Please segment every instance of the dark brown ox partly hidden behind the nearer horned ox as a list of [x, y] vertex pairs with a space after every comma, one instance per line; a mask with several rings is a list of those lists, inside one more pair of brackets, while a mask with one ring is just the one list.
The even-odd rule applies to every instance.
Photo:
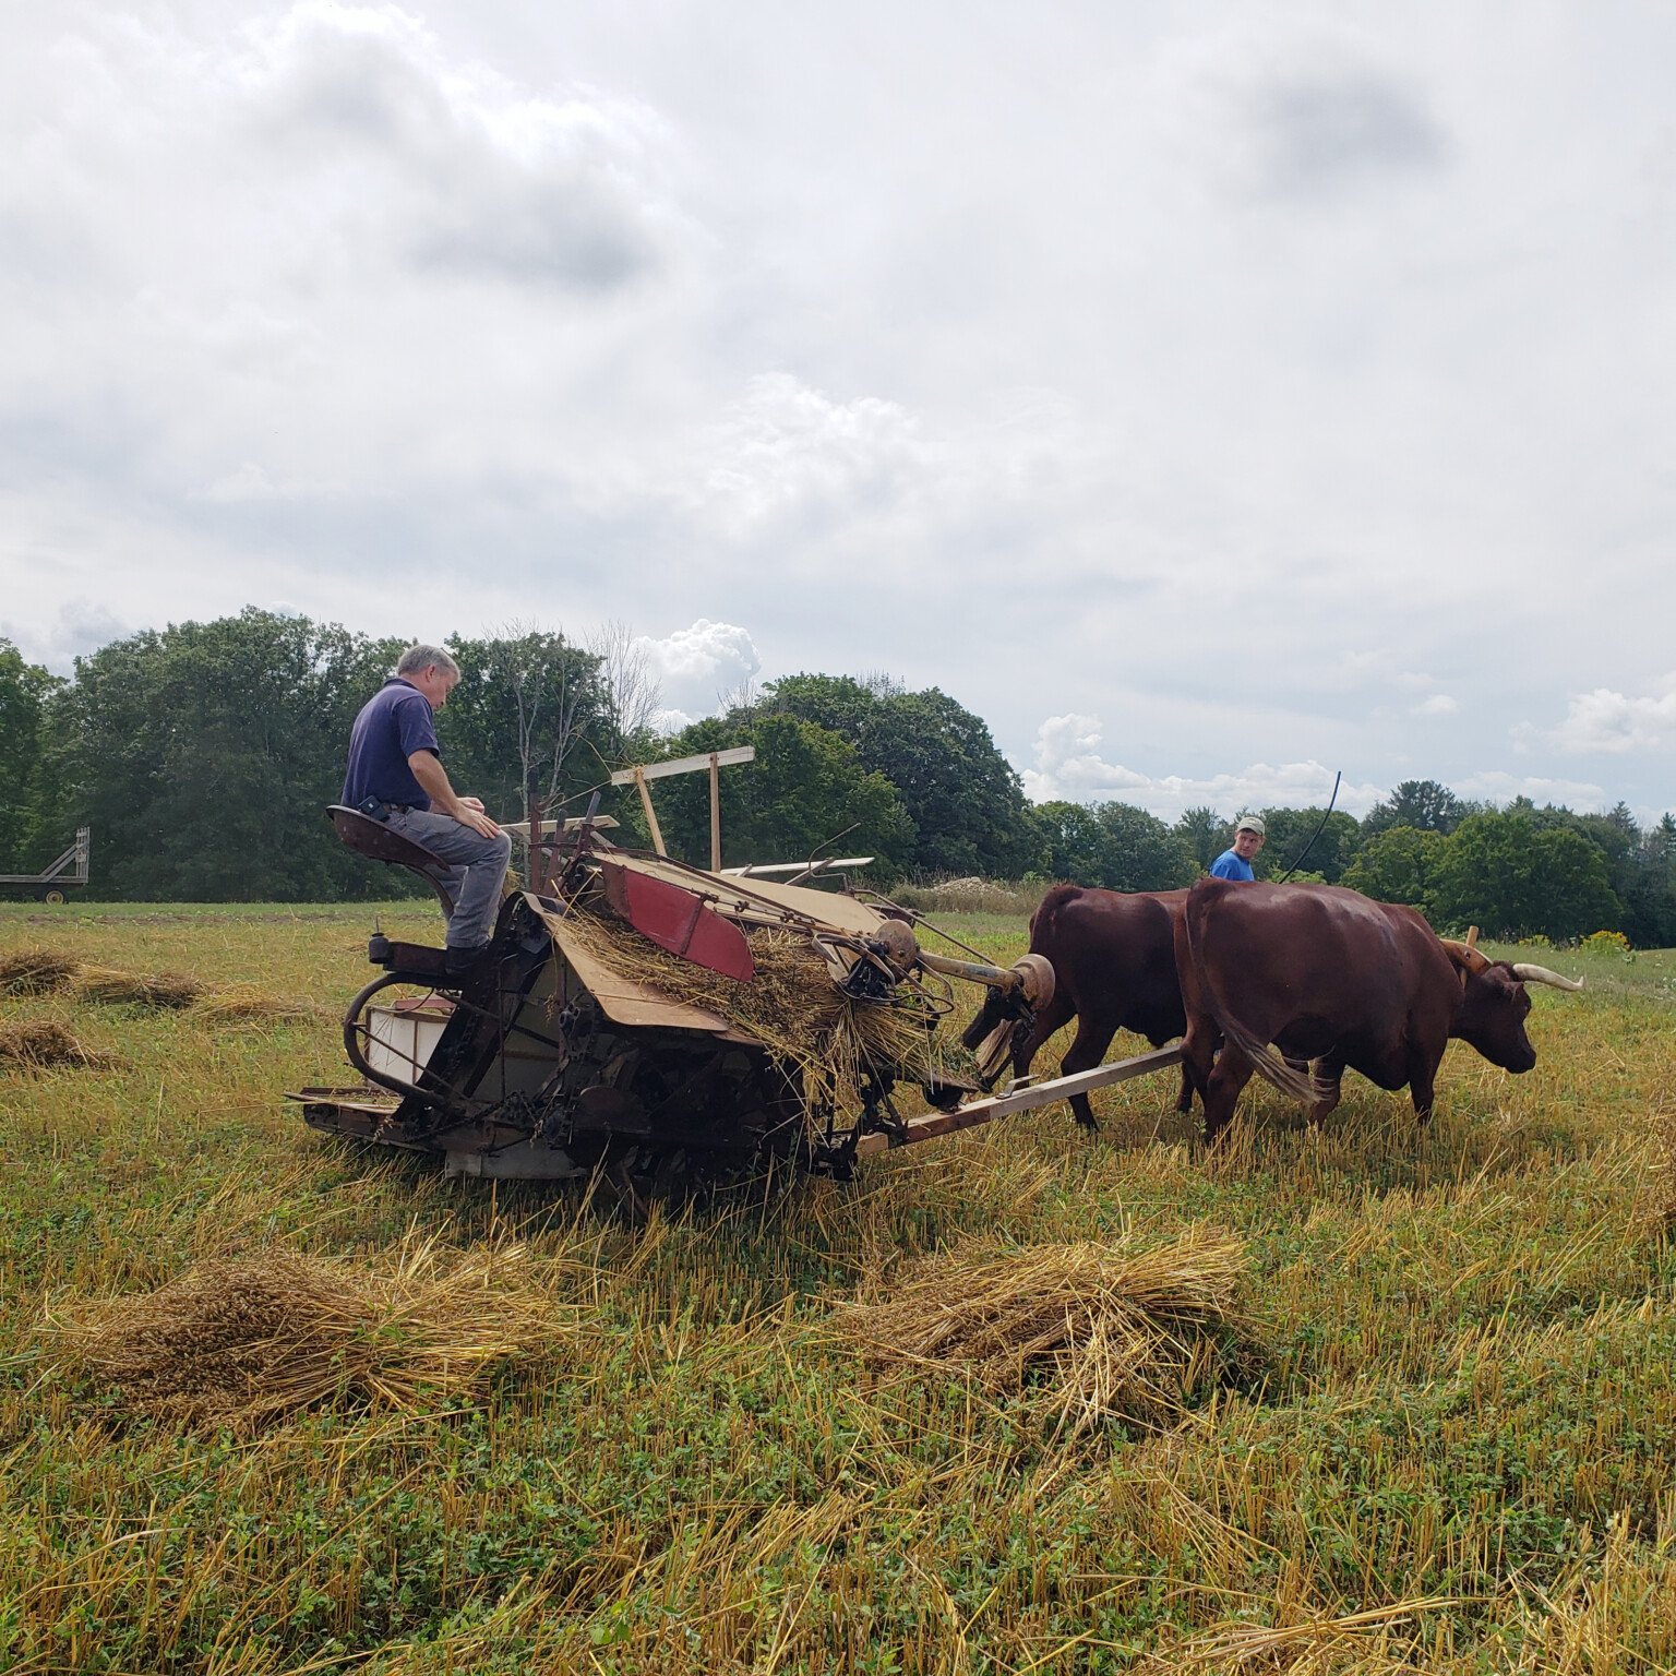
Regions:
[[[1173, 1041], [1185, 1027], [1182, 985], [1175, 975], [1175, 918], [1185, 890], [1126, 895], [1054, 885], [1031, 917], [1031, 954], [1054, 970], [1053, 1001], [1032, 1027], [1021, 1024], [1012, 1036], [1012, 1074], [1024, 1076], [1042, 1042], [1074, 1017], [1076, 1039], [1061, 1071], [1091, 1071], [1120, 1031], [1145, 1036], [1153, 1048]], [[1009, 1017], [1009, 1001], [991, 991], [977, 1017], [960, 1037], [977, 1048]], [[1190, 1111], [1193, 1089], [1182, 1078], [1177, 1111]], [[1098, 1130], [1088, 1094], [1071, 1094], [1076, 1121]]]

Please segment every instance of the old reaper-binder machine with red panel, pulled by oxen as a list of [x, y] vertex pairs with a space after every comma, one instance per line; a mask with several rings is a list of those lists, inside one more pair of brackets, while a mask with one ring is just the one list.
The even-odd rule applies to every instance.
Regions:
[[[379, 823], [332, 816], [352, 848], [434, 872]], [[1046, 960], [996, 965], [883, 898], [689, 866], [605, 825], [533, 823], [533, 888], [506, 895], [466, 977], [372, 937], [379, 972], [344, 1017], [365, 1084], [292, 1096], [310, 1125], [461, 1175], [600, 1172], [639, 1198], [776, 1160], [848, 1177], [868, 1153], [1178, 1061], [1165, 1048], [980, 1098], [939, 1029], [954, 985], [987, 985], [1007, 1029], [1027, 1027], [1053, 999]], [[922, 947], [932, 935], [945, 952]], [[907, 1110], [915, 1086], [929, 1110]]]

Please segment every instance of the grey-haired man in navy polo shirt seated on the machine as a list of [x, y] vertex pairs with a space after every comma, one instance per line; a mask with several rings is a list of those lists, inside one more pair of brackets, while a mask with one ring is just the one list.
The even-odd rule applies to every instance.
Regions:
[[436, 711], [458, 680], [459, 665], [441, 647], [407, 647], [396, 675], [355, 717], [342, 796], [444, 863], [437, 878], [454, 898], [444, 955], [451, 975], [468, 972], [488, 949], [513, 853], [511, 838], [476, 798], [456, 794], [442, 768]]

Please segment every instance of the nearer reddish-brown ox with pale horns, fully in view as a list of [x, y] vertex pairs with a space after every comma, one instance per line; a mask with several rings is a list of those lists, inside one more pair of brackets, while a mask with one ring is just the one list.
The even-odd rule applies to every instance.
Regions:
[[[1488, 960], [1438, 937], [1413, 908], [1336, 885], [1202, 878], [1177, 922], [1177, 962], [1182, 1063], [1205, 1101], [1207, 1141], [1252, 1071], [1316, 1121], [1339, 1103], [1346, 1068], [1379, 1088], [1408, 1084], [1425, 1121], [1451, 1037], [1505, 1071], [1529, 1071], [1537, 1051], [1525, 982], [1582, 989], [1547, 967]], [[1282, 1054], [1314, 1059], [1314, 1079]]]

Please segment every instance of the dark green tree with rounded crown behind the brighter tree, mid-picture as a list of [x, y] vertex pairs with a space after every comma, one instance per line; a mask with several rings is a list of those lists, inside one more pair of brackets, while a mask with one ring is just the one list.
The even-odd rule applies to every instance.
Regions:
[[1017, 878], [1042, 865], [1019, 776], [984, 721], [947, 692], [905, 692], [883, 677], [788, 675], [766, 691], [763, 709], [855, 744], [863, 766], [902, 794], [920, 872]]

